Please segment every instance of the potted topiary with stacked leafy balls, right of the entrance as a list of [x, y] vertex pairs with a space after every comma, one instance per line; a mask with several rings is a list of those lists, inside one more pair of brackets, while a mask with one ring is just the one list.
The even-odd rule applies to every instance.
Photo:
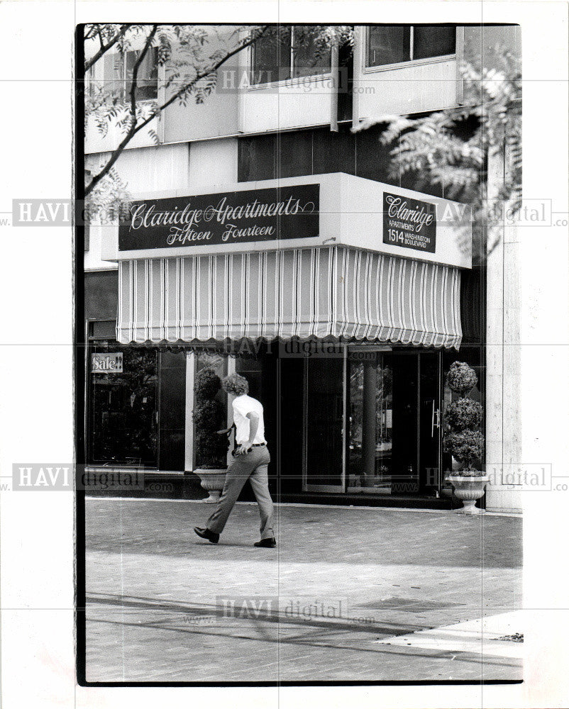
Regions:
[[455, 497], [463, 501], [463, 507], [456, 510], [463, 515], [479, 515], [483, 510], [476, 507], [476, 501], [484, 494], [489, 480], [483, 471], [473, 468], [480, 462], [484, 451], [484, 434], [480, 430], [482, 406], [473, 401], [468, 393], [476, 386], [478, 377], [472, 367], [465, 362], [453, 362], [446, 376], [446, 384], [459, 398], [450, 403], [445, 411], [445, 432], [443, 447], [460, 464], [447, 480], [454, 488]]

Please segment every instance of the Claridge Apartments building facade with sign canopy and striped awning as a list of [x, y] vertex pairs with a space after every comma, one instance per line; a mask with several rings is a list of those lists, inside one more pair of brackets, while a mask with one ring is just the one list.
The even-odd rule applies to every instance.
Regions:
[[[263, 402], [279, 501], [450, 508], [457, 360], [477, 372], [486, 464], [519, 459], [504, 355], [515, 239], [473, 253], [468, 206], [420, 174], [394, 181], [381, 124], [353, 130], [460, 105], [460, 62], [519, 49], [518, 29], [356, 27], [353, 48], [317, 55], [291, 27], [279, 57], [242, 50], [203, 103], [172, 104], [136, 136], [116, 163], [131, 214], [86, 240], [88, 465], [191, 480], [194, 381], [214, 367]], [[212, 51], [230, 35], [212, 33]], [[126, 82], [129, 54], [90, 78]], [[167, 98], [164, 67], [147, 63], [142, 100]], [[119, 135], [89, 120], [87, 169]], [[499, 166], [489, 174], [491, 191]], [[487, 509], [519, 510], [502, 483], [492, 476]]]

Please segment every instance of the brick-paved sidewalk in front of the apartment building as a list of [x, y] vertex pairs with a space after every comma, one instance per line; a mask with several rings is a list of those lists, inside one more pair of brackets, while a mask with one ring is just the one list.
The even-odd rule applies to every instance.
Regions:
[[521, 679], [519, 652], [377, 642], [519, 609], [521, 519], [284, 505], [258, 549], [254, 504], [219, 545], [210, 512], [87, 501], [88, 681]]

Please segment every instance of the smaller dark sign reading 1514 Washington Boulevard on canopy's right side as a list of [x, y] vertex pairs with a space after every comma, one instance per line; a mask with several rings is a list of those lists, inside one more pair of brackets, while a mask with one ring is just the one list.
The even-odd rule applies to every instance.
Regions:
[[384, 192], [383, 243], [435, 253], [436, 205]]

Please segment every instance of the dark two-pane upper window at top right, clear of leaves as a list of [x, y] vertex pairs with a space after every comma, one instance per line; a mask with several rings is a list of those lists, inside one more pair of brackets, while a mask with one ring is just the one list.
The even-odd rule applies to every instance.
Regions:
[[368, 67], [382, 67], [456, 52], [456, 28], [441, 25], [373, 26], [368, 32]]

